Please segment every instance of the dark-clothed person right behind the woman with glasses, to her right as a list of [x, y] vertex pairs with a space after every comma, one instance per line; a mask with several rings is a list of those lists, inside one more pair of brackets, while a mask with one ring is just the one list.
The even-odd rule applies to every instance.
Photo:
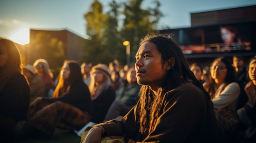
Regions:
[[240, 55], [233, 56], [233, 67], [236, 71], [237, 83], [240, 86], [240, 95], [238, 97], [237, 109], [242, 108], [248, 101], [245, 93], [245, 85], [248, 83], [247, 70], [244, 67], [245, 59]]

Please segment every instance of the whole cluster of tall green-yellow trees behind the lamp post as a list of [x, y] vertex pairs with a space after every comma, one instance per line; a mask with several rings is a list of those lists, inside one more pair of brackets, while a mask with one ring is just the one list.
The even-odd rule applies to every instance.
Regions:
[[103, 6], [98, 0], [90, 5], [90, 10], [84, 14], [86, 33], [89, 39], [85, 41], [81, 60], [92, 64], [108, 64], [114, 59], [126, 64], [126, 46], [122, 43], [130, 41], [130, 59], [135, 62], [139, 40], [148, 32], [157, 31], [159, 19], [163, 17], [159, 11], [160, 3], [154, 1], [154, 7], [142, 9], [143, 0], [129, 0], [109, 3], [110, 10], [103, 12]]

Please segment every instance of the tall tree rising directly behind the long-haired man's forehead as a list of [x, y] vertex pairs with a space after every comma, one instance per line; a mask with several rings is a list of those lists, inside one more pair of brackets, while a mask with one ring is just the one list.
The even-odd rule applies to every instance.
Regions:
[[[139, 40], [149, 32], [156, 32], [159, 19], [163, 17], [159, 11], [160, 2], [154, 1], [154, 8], [141, 9], [142, 2], [143, 0], [130, 0], [127, 4], [124, 3], [125, 19], [121, 36], [130, 41], [131, 57], [135, 57]], [[132, 59], [135, 62], [135, 58]]]

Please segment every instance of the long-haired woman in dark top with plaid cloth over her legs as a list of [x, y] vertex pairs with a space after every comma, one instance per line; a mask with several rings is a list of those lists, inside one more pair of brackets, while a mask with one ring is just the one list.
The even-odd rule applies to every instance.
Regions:
[[65, 61], [52, 98], [38, 97], [29, 107], [23, 132], [41, 139], [52, 138], [54, 129], [80, 130], [92, 117], [92, 101], [82, 79], [80, 64]]

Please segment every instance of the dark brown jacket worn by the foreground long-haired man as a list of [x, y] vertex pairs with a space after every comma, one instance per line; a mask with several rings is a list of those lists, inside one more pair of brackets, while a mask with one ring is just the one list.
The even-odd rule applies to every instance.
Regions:
[[139, 133], [137, 105], [122, 121], [101, 123], [107, 136], [126, 135], [137, 143], [216, 143], [218, 124], [204, 93], [190, 83], [167, 92], [153, 132]]

